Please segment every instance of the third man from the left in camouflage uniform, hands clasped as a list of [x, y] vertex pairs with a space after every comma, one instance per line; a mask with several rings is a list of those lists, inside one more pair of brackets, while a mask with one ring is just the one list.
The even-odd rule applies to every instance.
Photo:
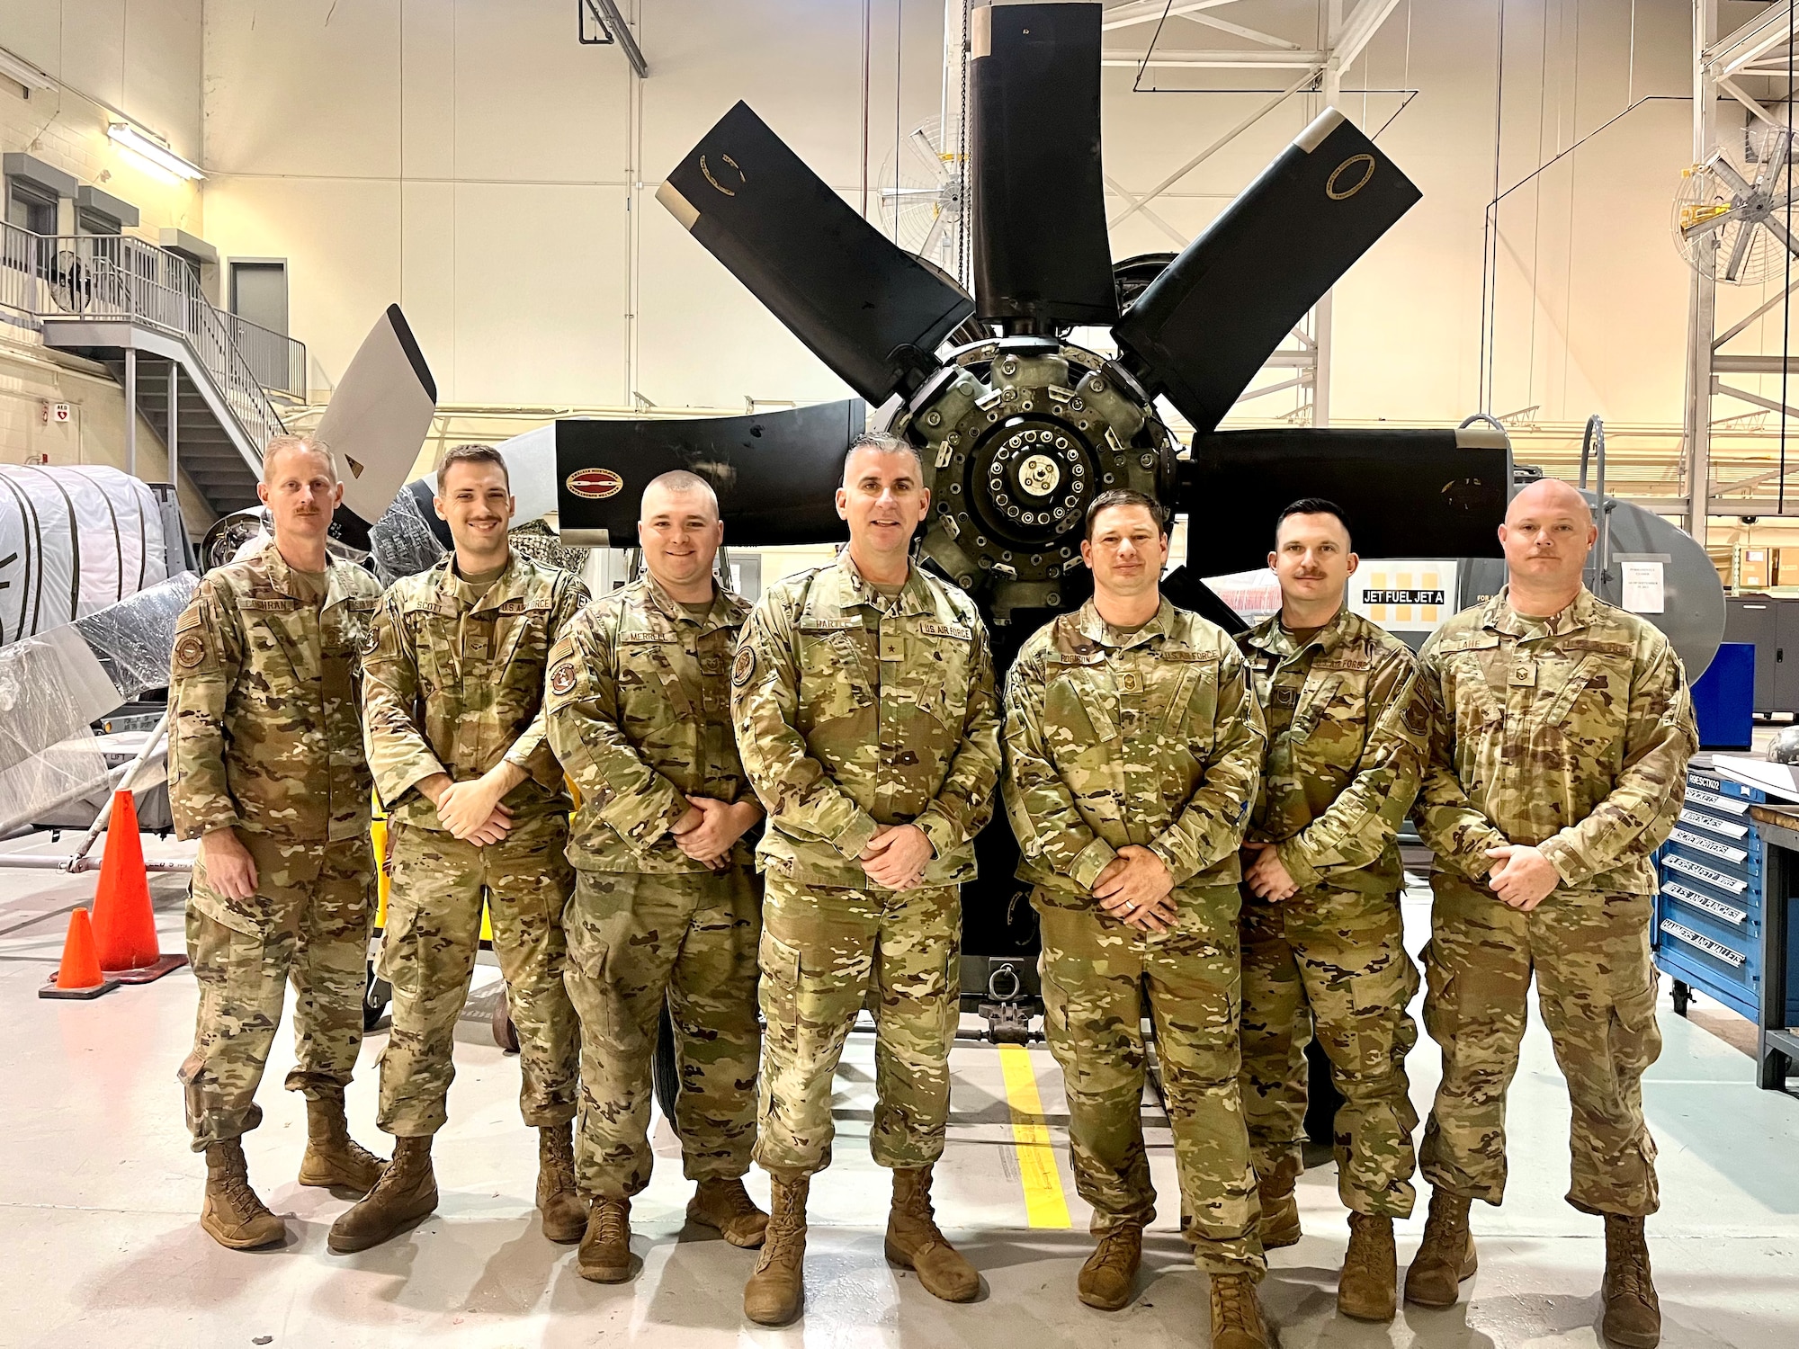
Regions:
[[759, 1246], [743, 1189], [756, 1140], [761, 885], [743, 835], [763, 818], [730, 730], [730, 658], [750, 606], [712, 583], [723, 543], [705, 478], [644, 487], [648, 576], [568, 624], [550, 651], [550, 745], [581, 793], [568, 860], [568, 993], [581, 1014], [577, 1268], [631, 1277], [631, 1196], [649, 1184], [649, 1061], [675, 1027], [675, 1131], [698, 1182], [687, 1216]]

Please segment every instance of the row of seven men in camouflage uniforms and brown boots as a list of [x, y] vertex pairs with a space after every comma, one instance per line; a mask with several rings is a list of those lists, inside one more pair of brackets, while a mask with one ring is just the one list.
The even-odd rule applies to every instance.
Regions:
[[[1439, 860], [1423, 962], [1445, 1074], [1405, 1297], [1448, 1306], [1473, 1273], [1470, 1202], [1504, 1191], [1504, 1097], [1535, 971], [1574, 1103], [1569, 1200], [1605, 1216], [1605, 1333], [1657, 1342], [1639, 1088], [1659, 1050], [1648, 854], [1678, 811], [1696, 732], [1666, 639], [1581, 586], [1594, 531], [1565, 484], [1518, 493], [1500, 529], [1508, 590], [1418, 658], [1344, 606], [1356, 556], [1329, 502], [1283, 513], [1268, 558], [1281, 612], [1232, 640], [1160, 595], [1157, 504], [1108, 491], [1081, 545], [1092, 599], [1024, 644], [1000, 703], [971, 601], [912, 563], [930, 493], [916, 450], [889, 437], [846, 459], [849, 545], [754, 610], [714, 583], [718, 502], [687, 473], [644, 493], [644, 579], [592, 604], [507, 550], [491, 450], [446, 457], [439, 511], [457, 550], [385, 599], [326, 563], [329, 457], [277, 442], [264, 477], [275, 538], [205, 579], [173, 673], [171, 797], [182, 833], [203, 835], [189, 907], [201, 1007], [182, 1079], [209, 1164], [201, 1221], [225, 1245], [282, 1236], [237, 1140], [259, 1119], [288, 977], [300, 1043], [288, 1085], [309, 1119], [300, 1180], [367, 1194], [331, 1246], [374, 1245], [435, 1207], [430, 1135], [486, 898], [522, 1108], [541, 1135], [545, 1234], [581, 1243], [585, 1277], [631, 1277], [666, 1007], [689, 1218], [761, 1246], [752, 1320], [797, 1317], [831, 1077], [867, 1005], [871, 1151], [894, 1176], [887, 1255], [934, 1295], [973, 1299], [980, 1279], [930, 1194], [957, 887], [998, 790], [1042, 923], [1047, 1038], [1094, 1211], [1081, 1300], [1128, 1304], [1155, 1214], [1148, 1014], [1214, 1345], [1272, 1344], [1256, 1284], [1265, 1248], [1301, 1236], [1313, 1032], [1344, 1097], [1338, 1308], [1389, 1320], [1418, 1124], [1405, 1056], [1419, 980], [1396, 847], [1412, 813]], [[392, 815], [390, 1164], [349, 1140], [342, 1112], [371, 917], [363, 741]], [[743, 1189], [752, 1157], [772, 1178], [770, 1214]]]

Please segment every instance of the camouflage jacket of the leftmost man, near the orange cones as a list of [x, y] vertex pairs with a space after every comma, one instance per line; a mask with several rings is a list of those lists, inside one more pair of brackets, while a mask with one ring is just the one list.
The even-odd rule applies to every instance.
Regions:
[[207, 572], [175, 624], [169, 808], [182, 838], [234, 827], [297, 844], [369, 833], [358, 662], [381, 586], [326, 565], [315, 608], [270, 543]]

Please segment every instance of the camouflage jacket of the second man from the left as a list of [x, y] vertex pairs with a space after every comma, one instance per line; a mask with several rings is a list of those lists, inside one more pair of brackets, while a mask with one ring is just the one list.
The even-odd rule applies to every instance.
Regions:
[[484, 595], [455, 574], [453, 552], [394, 581], [363, 653], [363, 734], [389, 815], [439, 829], [414, 788], [434, 773], [480, 777], [500, 759], [525, 770], [506, 793], [515, 822], [568, 809], [543, 739], [543, 671], [583, 604], [579, 579], [516, 550]]

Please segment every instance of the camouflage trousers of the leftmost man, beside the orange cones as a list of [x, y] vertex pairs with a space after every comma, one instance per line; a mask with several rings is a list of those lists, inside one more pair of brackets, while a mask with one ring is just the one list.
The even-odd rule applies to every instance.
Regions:
[[293, 1072], [288, 1090], [342, 1095], [362, 1050], [369, 984], [374, 854], [367, 838], [290, 844], [237, 835], [255, 862], [257, 892], [227, 899], [194, 863], [187, 959], [200, 986], [194, 1050], [182, 1063], [194, 1151], [263, 1122], [255, 1088], [293, 982]]

